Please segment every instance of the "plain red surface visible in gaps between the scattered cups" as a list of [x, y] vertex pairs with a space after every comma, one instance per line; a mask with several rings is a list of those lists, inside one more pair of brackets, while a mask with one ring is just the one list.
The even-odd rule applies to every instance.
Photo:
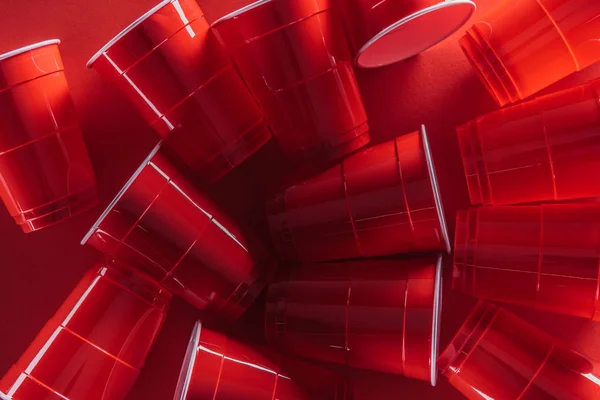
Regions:
[[[497, 0], [478, 0], [474, 18]], [[199, 0], [209, 21], [251, 0]], [[0, 209], [0, 374], [25, 350], [83, 273], [102, 256], [79, 241], [135, 167], [158, 140], [132, 107], [105, 85], [85, 63], [104, 43], [157, 3], [157, 0], [1, 0], [0, 53], [30, 43], [60, 38], [60, 46], [85, 140], [94, 164], [101, 206], [49, 229], [25, 235], [8, 212]], [[468, 205], [454, 127], [496, 108], [458, 48], [459, 35], [425, 53], [375, 70], [358, 72], [375, 143], [416, 130], [425, 123], [450, 229], [458, 208]], [[556, 90], [600, 76], [588, 68], [549, 88]], [[210, 192], [234, 216], [264, 234], [262, 190], [274, 171], [277, 154], [267, 146]], [[451, 232], [453, 236], [453, 232]], [[446, 291], [442, 317], [445, 345], [474, 300], [448, 287], [450, 259], [445, 263]], [[259, 302], [233, 329], [260, 340]], [[600, 372], [598, 324], [523, 309], [515, 311], [588, 357]], [[165, 327], [129, 399], [170, 399], [182, 353], [197, 312], [181, 301], [173, 304]], [[437, 388], [397, 376], [357, 372], [359, 399], [460, 399], [443, 377]]]

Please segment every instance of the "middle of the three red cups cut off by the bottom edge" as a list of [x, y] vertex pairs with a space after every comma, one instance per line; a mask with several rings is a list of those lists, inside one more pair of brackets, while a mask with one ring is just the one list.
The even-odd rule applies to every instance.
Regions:
[[352, 400], [328, 370], [237, 342], [196, 323], [174, 400]]

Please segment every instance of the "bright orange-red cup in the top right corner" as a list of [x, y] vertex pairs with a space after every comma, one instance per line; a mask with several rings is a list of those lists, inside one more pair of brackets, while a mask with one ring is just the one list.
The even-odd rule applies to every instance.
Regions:
[[600, 60], [598, 37], [597, 0], [504, 0], [459, 43], [503, 106]]

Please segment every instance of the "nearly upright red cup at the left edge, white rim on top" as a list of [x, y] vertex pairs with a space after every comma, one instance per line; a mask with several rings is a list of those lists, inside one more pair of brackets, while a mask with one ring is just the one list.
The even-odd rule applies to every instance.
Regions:
[[0, 55], [0, 197], [26, 233], [97, 204], [59, 43]]

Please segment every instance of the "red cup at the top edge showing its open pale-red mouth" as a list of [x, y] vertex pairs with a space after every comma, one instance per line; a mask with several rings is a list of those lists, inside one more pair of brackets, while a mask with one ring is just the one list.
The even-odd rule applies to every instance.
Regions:
[[435, 46], [475, 11], [471, 0], [340, 1], [358, 67], [393, 64]]

